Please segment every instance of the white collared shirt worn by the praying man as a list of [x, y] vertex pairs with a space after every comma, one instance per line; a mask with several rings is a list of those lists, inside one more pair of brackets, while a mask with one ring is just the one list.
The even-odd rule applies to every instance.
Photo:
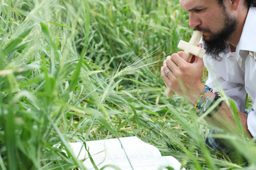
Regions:
[[[248, 114], [247, 128], [256, 137], [256, 8], [247, 14], [236, 52], [226, 54], [221, 61], [214, 61], [204, 55], [204, 64], [209, 72], [206, 84], [213, 91], [224, 91], [233, 99], [238, 111], [245, 112], [246, 93], [253, 101], [253, 112]], [[249, 53], [255, 52], [255, 53]]]

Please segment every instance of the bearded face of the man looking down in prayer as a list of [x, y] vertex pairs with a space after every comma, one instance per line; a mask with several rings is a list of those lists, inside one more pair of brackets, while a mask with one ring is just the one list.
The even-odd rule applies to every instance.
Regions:
[[225, 4], [217, 0], [180, 0], [180, 6], [189, 12], [189, 27], [204, 32], [204, 49], [214, 59], [229, 52], [228, 40], [236, 31], [237, 19], [229, 15]]

